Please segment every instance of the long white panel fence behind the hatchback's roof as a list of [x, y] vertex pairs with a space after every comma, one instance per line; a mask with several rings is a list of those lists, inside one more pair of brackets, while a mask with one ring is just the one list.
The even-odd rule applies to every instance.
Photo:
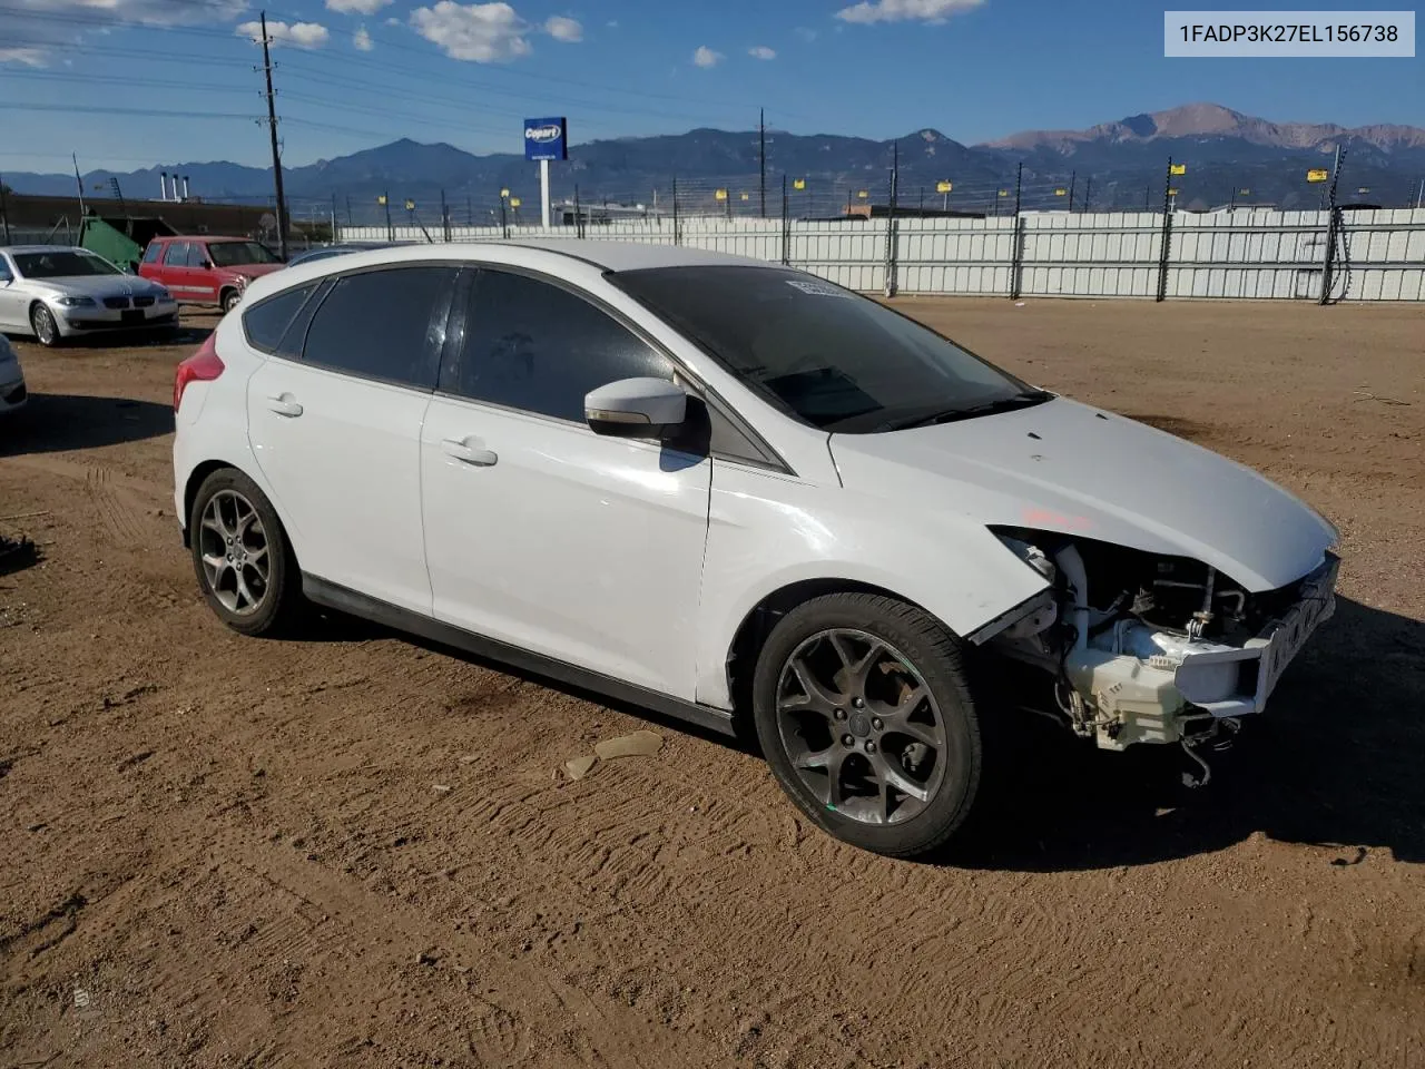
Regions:
[[[1321, 295], [1325, 211], [1238, 208], [1174, 214], [1166, 274], [1163, 217], [1153, 212], [1026, 212], [988, 218], [630, 220], [584, 228], [590, 239], [683, 244], [789, 262], [865, 292], [886, 285], [888, 247], [901, 294], [1302, 299]], [[510, 227], [512, 241], [570, 238], [573, 227]], [[452, 241], [500, 241], [500, 227], [452, 227]], [[1016, 268], [1015, 242], [1019, 241]], [[342, 241], [442, 241], [440, 227], [345, 227]], [[1345, 212], [1332, 296], [1425, 301], [1425, 210]]]

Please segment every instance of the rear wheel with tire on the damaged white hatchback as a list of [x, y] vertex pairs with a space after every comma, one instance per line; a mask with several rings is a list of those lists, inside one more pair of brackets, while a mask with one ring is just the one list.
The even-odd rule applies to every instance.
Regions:
[[224, 468], [194, 496], [192, 567], [208, 606], [241, 634], [269, 634], [301, 603], [301, 572], [272, 503], [248, 476]]

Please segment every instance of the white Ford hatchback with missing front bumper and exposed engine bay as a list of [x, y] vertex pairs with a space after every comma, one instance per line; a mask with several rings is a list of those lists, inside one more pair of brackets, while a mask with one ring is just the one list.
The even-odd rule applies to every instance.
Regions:
[[945, 842], [1005, 774], [990, 681], [1102, 747], [1191, 747], [1263, 708], [1334, 603], [1335, 530], [1254, 472], [687, 248], [289, 268], [174, 408], [228, 626], [305, 599], [751, 724], [808, 818], [885, 854]]

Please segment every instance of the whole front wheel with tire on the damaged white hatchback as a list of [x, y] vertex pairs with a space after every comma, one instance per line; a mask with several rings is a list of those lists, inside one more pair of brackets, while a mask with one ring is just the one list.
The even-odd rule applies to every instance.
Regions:
[[787, 613], [752, 716], [782, 790], [839, 840], [915, 857], [970, 814], [983, 748], [960, 644], [913, 606], [844, 593]]

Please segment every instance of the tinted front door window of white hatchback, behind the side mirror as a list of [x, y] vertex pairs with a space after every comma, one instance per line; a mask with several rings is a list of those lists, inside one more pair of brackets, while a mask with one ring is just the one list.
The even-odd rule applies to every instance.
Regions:
[[617, 379], [673, 378], [673, 365], [611, 316], [524, 275], [482, 271], [465, 346], [445, 389], [584, 422], [584, 395]]

